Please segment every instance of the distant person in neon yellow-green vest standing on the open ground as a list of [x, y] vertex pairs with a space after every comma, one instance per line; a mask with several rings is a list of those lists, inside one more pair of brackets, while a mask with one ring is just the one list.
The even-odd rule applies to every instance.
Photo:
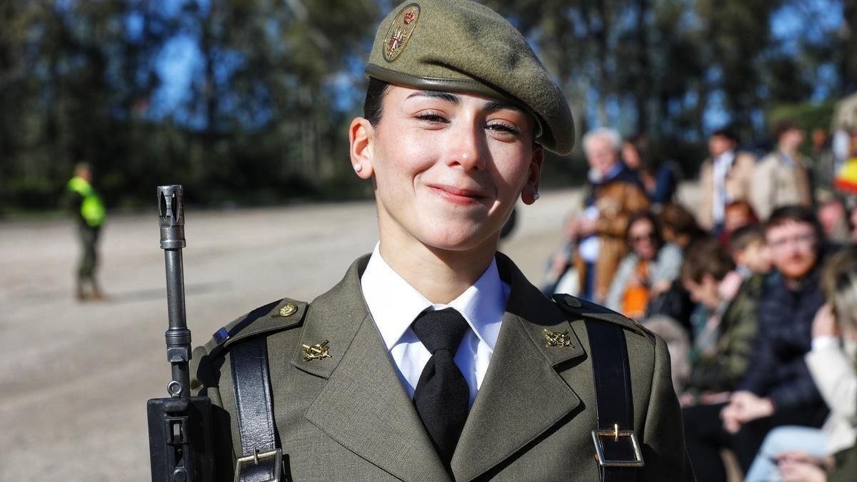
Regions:
[[[103, 299], [104, 295], [95, 279], [99, 256], [97, 244], [101, 226], [105, 222], [105, 205], [93, 188], [93, 173], [89, 165], [81, 162], [75, 167], [75, 177], [69, 179], [69, 204], [77, 221], [77, 233], [81, 242], [81, 261], [77, 268], [77, 299]], [[89, 292], [87, 292], [87, 285]]]

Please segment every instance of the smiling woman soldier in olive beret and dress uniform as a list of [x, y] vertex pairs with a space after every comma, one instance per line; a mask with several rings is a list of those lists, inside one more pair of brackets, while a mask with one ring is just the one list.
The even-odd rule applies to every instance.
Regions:
[[545, 298], [496, 251], [518, 198], [539, 197], [544, 149], [573, 143], [521, 34], [467, 0], [405, 3], [366, 74], [351, 164], [380, 242], [312, 303], [262, 306], [195, 350], [219, 479], [692, 479], [663, 341]]

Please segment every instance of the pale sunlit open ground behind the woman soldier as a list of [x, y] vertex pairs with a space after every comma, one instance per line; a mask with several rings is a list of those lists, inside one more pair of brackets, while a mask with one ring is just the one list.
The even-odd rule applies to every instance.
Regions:
[[[501, 248], [530, 280], [560, 244], [572, 190], [518, 211]], [[312, 299], [377, 239], [375, 208], [350, 202], [189, 210], [184, 250], [195, 343], [274, 299]], [[0, 224], [0, 480], [150, 479], [145, 405], [166, 395], [166, 299], [155, 214], [111, 218], [101, 245], [109, 301], [72, 297], [66, 222]]]

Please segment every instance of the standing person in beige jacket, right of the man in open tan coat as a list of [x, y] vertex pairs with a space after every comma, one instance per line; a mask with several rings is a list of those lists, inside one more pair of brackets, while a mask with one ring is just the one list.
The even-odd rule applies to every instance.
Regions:
[[812, 204], [806, 162], [798, 152], [804, 141], [800, 123], [794, 119], [778, 122], [774, 137], [775, 150], [759, 161], [752, 174], [750, 200], [763, 220], [780, 206]]

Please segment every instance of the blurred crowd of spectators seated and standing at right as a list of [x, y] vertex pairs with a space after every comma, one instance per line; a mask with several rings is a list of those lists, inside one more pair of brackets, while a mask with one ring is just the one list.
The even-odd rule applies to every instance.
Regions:
[[644, 136], [590, 131], [584, 201], [543, 289], [667, 340], [698, 480], [726, 480], [727, 460], [750, 481], [854, 480], [857, 137], [814, 131], [803, 154], [783, 120], [772, 138], [759, 153], [716, 130], [690, 206]]

